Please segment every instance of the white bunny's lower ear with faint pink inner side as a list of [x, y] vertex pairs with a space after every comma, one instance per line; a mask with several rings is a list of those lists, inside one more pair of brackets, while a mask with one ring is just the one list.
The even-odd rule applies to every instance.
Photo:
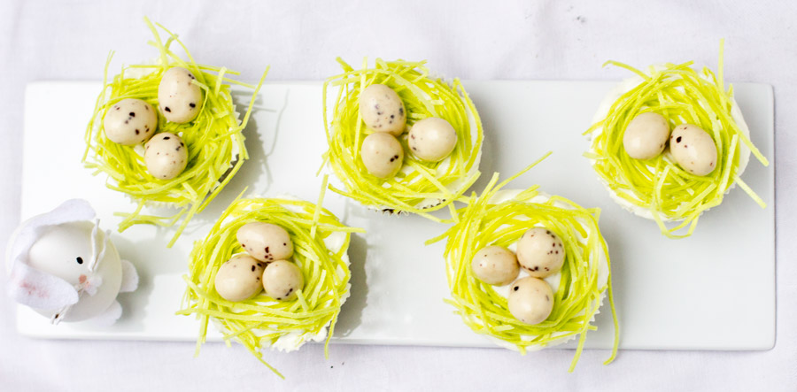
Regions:
[[19, 263], [10, 277], [9, 296], [19, 304], [35, 309], [60, 309], [77, 304], [77, 290], [61, 278]]

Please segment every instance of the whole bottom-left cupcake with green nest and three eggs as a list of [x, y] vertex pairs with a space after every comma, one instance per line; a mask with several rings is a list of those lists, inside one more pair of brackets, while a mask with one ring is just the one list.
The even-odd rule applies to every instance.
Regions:
[[[349, 296], [351, 233], [320, 205], [292, 197], [238, 199], [191, 251], [178, 314], [210, 321], [259, 361], [332, 336]], [[326, 352], [327, 346], [325, 346]]]

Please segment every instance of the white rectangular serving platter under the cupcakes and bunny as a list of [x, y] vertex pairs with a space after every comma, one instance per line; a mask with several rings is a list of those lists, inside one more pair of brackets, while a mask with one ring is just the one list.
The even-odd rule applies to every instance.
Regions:
[[[600, 227], [612, 262], [621, 349], [768, 350], [775, 342], [774, 167], [751, 160], [747, 181], [768, 204], [761, 209], [734, 188], [723, 204], [700, 219], [695, 234], [669, 240], [654, 222], [614, 204], [582, 152], [612, 81], [466, 81], [484, 122], [480, 191], [493, 172], [506, 178], [553, 150], [553, 155], [511, 188], [540, 184], [551, 194], [585, 207], [600, 207]], [[101, 85], [42, 81], [27, 86], [21, 218], [49, 211], [72, 197], [88, 199], [105, 228], [114, 211], [131, 211], [125, 196], [104, 187], [81, 165], [83, 133]], [[774, 162], [773, 97], [769, 85], [735, 85], [753, 142]], [[240, 105], [246, 92], [236, 92]], [[176, 316], [187, 257], [221, 211], [244, 188], [248, 196], [290, 194], [315, 201], [315, 173], [326, 150], [321, 119], [321, 82], [267, 82], [244, 130], [251, 160], [171, 249], [173, 229], [137, 226], [112, 241], [141, 275], [135, 293], [120, 296], [124, 314], [112, 327], [51, 326], [24, 307], [20, 334], [56, 339], [193, 341], [193, 317]], [[333, 342], [490, 347], [444, 304], [443, 243], [424, 246], [445, 226], [417, 216], [368, 211], [328, 192], [325, 206], [367, 234], [352, 240], [352, 296], [344, 304]], [[612, 345], [607, 306], [589, 333], [587, 348]], [[209, 336], [219, 340], [219, 334]], [[573, 347], [570, 343], [564, 347]]]

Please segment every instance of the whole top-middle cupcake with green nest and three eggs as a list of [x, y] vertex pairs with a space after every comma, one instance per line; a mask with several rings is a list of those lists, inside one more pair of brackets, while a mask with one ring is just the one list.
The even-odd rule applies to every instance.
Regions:
[[383, 61], [324, 82], [323, 158], [333, 191], [374, 210], [430, 219], [478, 179], [481, 119], [459, 80], [425, 62]]

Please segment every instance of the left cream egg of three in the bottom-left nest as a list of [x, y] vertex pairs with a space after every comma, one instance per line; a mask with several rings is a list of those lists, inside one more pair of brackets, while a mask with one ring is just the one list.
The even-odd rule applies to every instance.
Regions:
[[249, 255], [236, 255], [219, 267], [213, 281], [216, 292], [231, 302], [244, 301], [257, 296], [263, 289], [263, 270], [266, 263]]

